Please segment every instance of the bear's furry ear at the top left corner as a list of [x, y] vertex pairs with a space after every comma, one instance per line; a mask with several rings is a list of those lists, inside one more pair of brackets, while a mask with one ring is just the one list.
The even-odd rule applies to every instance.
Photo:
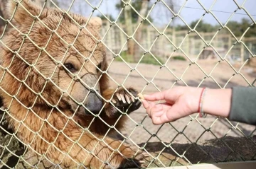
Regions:
[[41, 8], [30, 0], [8, 0], [6, 6], [9, 17], [14, 13], [14, 20], [19, 25], [31, 25], [33, 16], [38, 16], [41, 11]]

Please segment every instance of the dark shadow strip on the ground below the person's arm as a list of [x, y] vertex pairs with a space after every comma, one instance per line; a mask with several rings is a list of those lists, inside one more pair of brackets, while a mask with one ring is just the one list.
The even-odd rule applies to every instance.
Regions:
[[255, 143], [256, 136], [250, 139], [226, 136], [197, 144], [171, 144], [166, 147], [169, 144], [154, 142], [139, 146], [144, 146], [151, 154], [151, 157], [146, 159], [145, 166], [152, 168], [197, 163], [254, 161], [256, 160]]

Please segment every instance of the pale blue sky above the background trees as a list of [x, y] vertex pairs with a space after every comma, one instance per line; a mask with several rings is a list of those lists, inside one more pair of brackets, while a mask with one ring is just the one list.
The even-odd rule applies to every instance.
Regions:
[[[67, 0], [68, 1], [72, 0]], [[89, 16], [92, 12], [92, 8], [87, 5], [85, 2], [86, 0], [75, 0], [74, 6], [72, 8], [73, 11], [77, 12], [80, 11], [84, 16]], [[100, 0], [87, 0], [94, 6], [98, 6]], [[120, 0], [102, 0], [100, 4], [100, 11], [105, 15], [111, 15], [114, 18], [117, 18], [119, 15], [119, 10], [115, 7], [115, 4], [119, 3]], [[127, 1], [127, 0], [126, 0]], [[132, 0], [136, 1], [137, 3], [142, 3], [142, 0]], [[168, 0], [165, 0], [166, 4], [170, 5]], [[200, 3], [206, 8], [211, 8], [213, 14], [218, 18], [218, 20], [225, 24], [228, 21], [228, 18], [232, 16], [232, 13], [238, 9], [238, 6], [235, 4], [233, 0], [173, 0], [174, 1], [174, 10], [176, 13], [180, 11], [179, 15], [183, 18], [186, 23], [191, 23], [192, 21], [196, 21], [203, 16], [205, 11], [203, 7], [198, 3]], [[153, 6], [156, 0], [151, 0], [149, 3], [150, 6]], [[236, 0], [238, 5], [243, 6], [248, 13], [254, 18], [256, 21], [256, 1], [255, 0]], [[181, 6], [184, 6], [181, 8]], [[181, 9], [181, 10], [180, 10]], [[98, 11], [95, 11], [94, 16], [99, 15]], [[154, 8], [150, 13], [151, 18], [154, 20], [154, 24], [158, 26], [164, 26], [171, 20], [173, 16], [171, 12], [164, 6], [164, 4], [160, 1], [157, 2]], [[230, 18], [231, 21], [238, 21], [240, 22], [242, 18], [250, 19], [243, 9], [238, 10], [235, 15]], [[215, 18], [210, 14], [207, 13], [203, 17], [203, 21], [206, 23], [210, 23], [212, 25], [218, 24]], [[173, 25], [183, 25], [181, 18], [175, 18], [172, 22]]]

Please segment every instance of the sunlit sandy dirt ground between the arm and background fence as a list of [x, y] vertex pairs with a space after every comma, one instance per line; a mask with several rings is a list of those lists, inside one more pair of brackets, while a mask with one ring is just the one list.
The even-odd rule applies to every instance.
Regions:
[[[252, 83], [256, 78], [255, 69], [250, 66], [242, 66], [240, 70], [241, 65], [237, 64], [232, 69], [227, 62], [218, 63], [214, 59], [199, 60], [197, 64], [172, 60], [161, 69], [159, 69], [160, 65], [128, 64], [129, 66], [124, 62], [112, 62], [109, 69], [110, 76], [117, 83], [134, 86], [139, 91], [143, 90], [143, 93], [157, 91], [156, 87], [165, 90], [172, 86], [185, 86], [185, 83], [196, 87], [201, 83], [201, 87], [209, 88], [223, 88], [225, 84], [225, 88], [249, 86], [248, 83]], [[132, 69], [136, 70], [131, 72]], [[114, 81], [111, 81], [113, 85]], [[147, 82], [152, 83], [146, 85]]]

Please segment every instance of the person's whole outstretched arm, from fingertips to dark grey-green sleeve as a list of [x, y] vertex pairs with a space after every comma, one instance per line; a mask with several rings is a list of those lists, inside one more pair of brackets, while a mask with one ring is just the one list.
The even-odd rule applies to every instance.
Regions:
[[[200, 102], [203, 103], [201, 108], [206, 114], [256, 124], [256, 88], [209, 88], [203, 96], [202, 91], [203, 88], [177, 87], [144, 95], [142, 101], [154, 124], [173, 122], [196, 113]], [[166, 103], [148, 103], [157, 100], [165, 100]]]

